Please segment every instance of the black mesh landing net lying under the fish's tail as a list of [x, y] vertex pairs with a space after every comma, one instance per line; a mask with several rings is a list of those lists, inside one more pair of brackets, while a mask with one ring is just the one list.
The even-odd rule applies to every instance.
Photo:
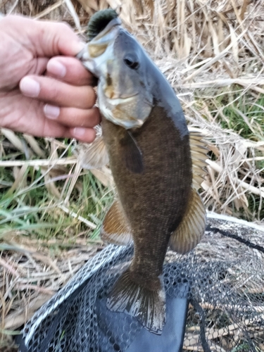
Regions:
[[132, 246], [109, 245], [27, 322], [20, 351], [264, 351], [263, 236], [246, 223], [209, 218], [196, 249], [169, 250], [161, 335], [106, 308], [133, 254]]

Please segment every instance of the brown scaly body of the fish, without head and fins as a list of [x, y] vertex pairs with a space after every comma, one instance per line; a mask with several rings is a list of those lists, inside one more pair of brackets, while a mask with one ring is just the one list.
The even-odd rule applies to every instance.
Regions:
[[137, 174], [122, 160], [120, 136], [127, 132], [104, 118], [102, 127], [118, 197], [134, 239], [130, 272], [134, 280], [151, 286], [151, 279], [156, 281], [162, 273], [170, 234], [189, 200], [189, 136], [181, 137], [165, 109], [155, 106], [144, 125], [132, 133], [144, 163], [144, 171]]

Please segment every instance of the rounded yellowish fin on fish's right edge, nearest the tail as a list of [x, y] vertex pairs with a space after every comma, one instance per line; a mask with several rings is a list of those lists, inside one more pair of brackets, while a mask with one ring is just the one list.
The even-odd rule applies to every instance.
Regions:
[[177, 253], [187, 253], [199, 244], [206, 230], [206, 209], [197, 191], [192, 189], [182, 222], [170, 236], [170, 248]]

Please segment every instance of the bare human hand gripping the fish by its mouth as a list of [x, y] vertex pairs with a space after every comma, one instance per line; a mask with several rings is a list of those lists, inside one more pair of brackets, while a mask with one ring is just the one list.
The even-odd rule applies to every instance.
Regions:
[[94, 77], [74, 56], [68, 25], [10, 15], [0, 20], [0, 127], [92, 142], [100, 120]]

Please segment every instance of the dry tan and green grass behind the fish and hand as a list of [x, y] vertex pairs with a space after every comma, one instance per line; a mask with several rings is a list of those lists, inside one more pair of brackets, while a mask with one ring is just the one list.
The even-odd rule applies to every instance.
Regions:
[[[0, 12], [63, 20], [85, 37], [89, 17], [109, 6], [208, 141], [208, 210], [264, 226], [263, 0], [1, 0]], [[0, 132], [0, 351], [102, 248], [113, 179], [108, 168], [82, 169], [84, 148]]]

